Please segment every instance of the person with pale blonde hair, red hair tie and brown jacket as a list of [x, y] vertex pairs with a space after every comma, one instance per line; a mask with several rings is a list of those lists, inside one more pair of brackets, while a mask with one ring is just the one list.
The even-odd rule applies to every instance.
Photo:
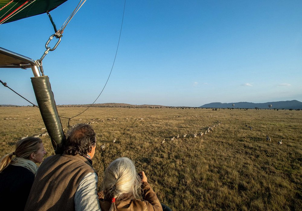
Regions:
[[105, 170], [102, 191], [98, 193], [101, 210], [162, 210], [145, 173], [140, 174], [129, 158], [114, 160]]

